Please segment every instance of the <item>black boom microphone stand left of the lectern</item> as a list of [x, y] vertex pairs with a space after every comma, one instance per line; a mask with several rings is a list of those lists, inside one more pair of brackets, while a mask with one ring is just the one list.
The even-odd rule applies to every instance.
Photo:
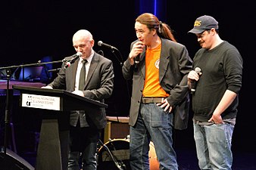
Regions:
[[[51, 61], [51, 62], [45, 62], [41, 63], [41, 60], [39, 60], [37, 63], [29, 63], [29, 64], [22, 64], [18, 66], [5, 66], [5, 67], [0, 67], [0, 70], [6, 70], [7, 74], [7, 84], [6, 84], [6, 105], [5, 105], [5, 142], [4, 142], [4, 147], [1, 148], [1, 153], [4, 152], [6, 155], [6, 148], [8, 145], [8, 128], [10, 126], [10, 79], [11, 79], [11, 69], [13, 68], [19, 68], [19, 67], [25, 67], [25, 66], [44, 66], [45, 64], [49, 63], [62, 63], [64, 62], [63, 60], [57, 60], [57, 61]], [[24, 70], [23, 70], [24, 71]], [[24, 74], [24, 73], [23, 73]]]

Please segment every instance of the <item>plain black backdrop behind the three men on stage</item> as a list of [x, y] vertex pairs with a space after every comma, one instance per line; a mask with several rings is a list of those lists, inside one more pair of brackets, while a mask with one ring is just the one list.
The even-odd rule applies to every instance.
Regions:
[[[75, 54], [73, 33], [88, 29], [95, 39], [95, 51], [104, 51], [105, 57], [114, 62], [114, 94], [106, 100], [108, 116], [128, 116], [131, 82], [121, 73], [119, 60], [126, 60], [130, 43], [136, 39], [134, 22], [142, 12], [154, 13], [155, 1], [8, 1], [1, 5], [0, 66], [17, 66], [36, 63], [43, 57], [62, 60]], [[256, 150], [256, 109], [254, 90], [255, 64], [255, 8], [251, 1], [158, 1], [156, 15], [170, 25], [178, 42], [186, 45], [191, 57], [200, 48], [195, 36], [187, 34], [195, 19], [208, 14], [219, 22], [220, 37], [239, 49], [244, 70], [242, 90], [239, 94], [239, 113], [233, 135], [233, 148], [242, 152]], [[116, 47], [120, 54], [98, 47], [102, 41]], [[117, 60], [118, 59], [118, 60]], [[55, 68], [60, 67], [55, 65]], [[55, 74], [53, 75], [55, 78]], [[250, 79], [251, 78], [251, 79]], [[4, 103], [1, 110], [5, 110]], [[22, 109], [17, 109], [17, 112]], [[14, 113], [20, 114], [26, 112]], [[23, 115], [24, 116], [24, 115]], [[194, 145], [192, 113], [189, 128], [176, 131], [177, 147]], [[33, 117], [27, 118], [33, 122]], [[25, 125], [26, 126], [26, 125]], [[20, 140], [22, 142], [23, 140]]]

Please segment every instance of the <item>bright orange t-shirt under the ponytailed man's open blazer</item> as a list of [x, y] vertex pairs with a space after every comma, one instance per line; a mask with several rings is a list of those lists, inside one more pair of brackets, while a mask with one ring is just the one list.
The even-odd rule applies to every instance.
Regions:
[[159, 61], [161, 44], [157, 48], [147, 49], [145, 53], [145, 84], [143, 97], [168, 97], [159, 83]]

